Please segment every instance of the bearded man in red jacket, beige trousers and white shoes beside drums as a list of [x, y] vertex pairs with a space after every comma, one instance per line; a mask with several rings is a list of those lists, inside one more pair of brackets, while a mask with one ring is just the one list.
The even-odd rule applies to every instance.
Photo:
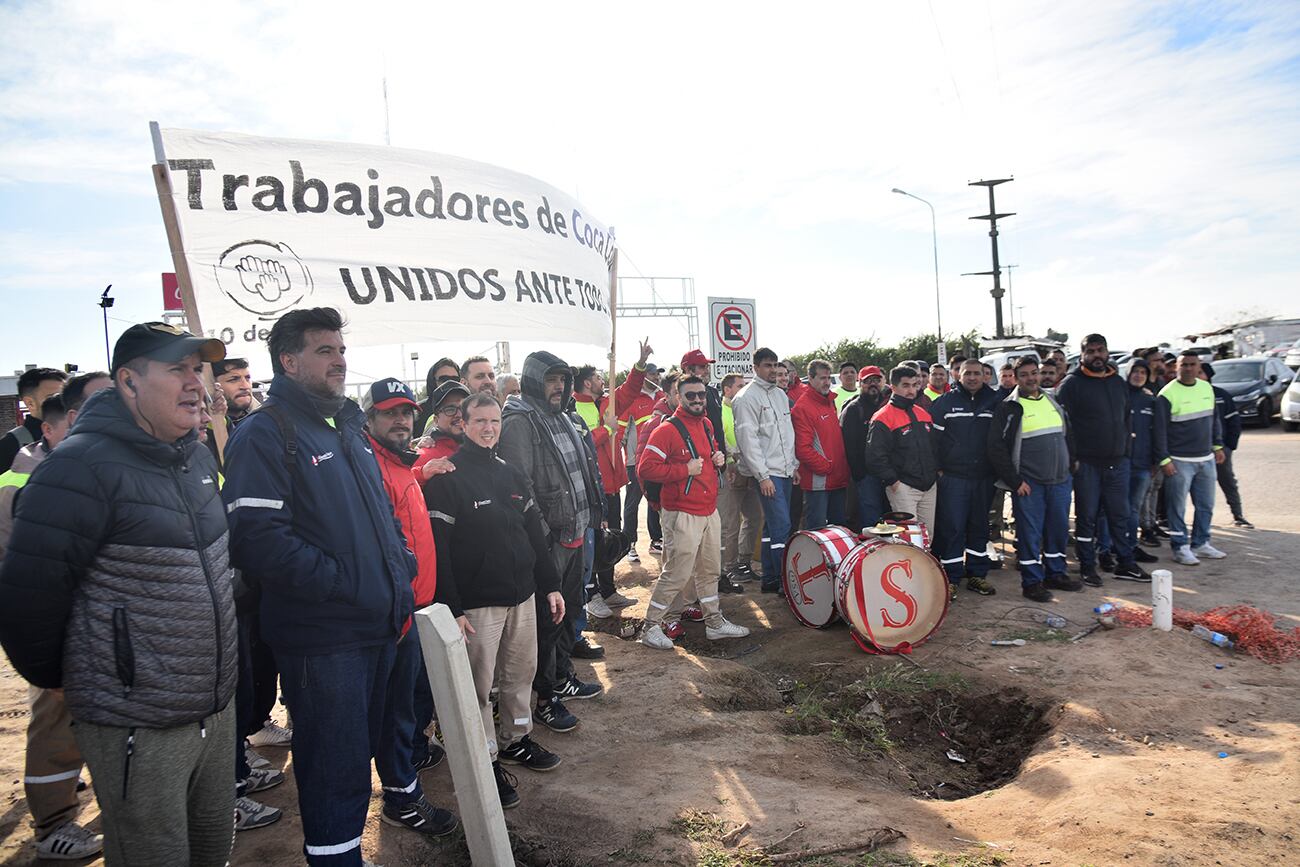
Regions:
[[[684, 599], [696, 595], [705, 612], [705, 637], [742, 638], [749, 634], [723, 617], [718, 603], [722, 567], [722, 519], [718, 516], [718, 471], [727, 463], [712, 425], [705, 417], [707, 387], [699, 377], [677, 385], [681, 406], [666, 419], [641, 452], [637, 473], [658, 482], [659, 524], [663, 526], [663, 569], [646, 608], [641, 643], [671, 650], [662, 623]], [[692, 586], [693, 585], [693, 586]]]

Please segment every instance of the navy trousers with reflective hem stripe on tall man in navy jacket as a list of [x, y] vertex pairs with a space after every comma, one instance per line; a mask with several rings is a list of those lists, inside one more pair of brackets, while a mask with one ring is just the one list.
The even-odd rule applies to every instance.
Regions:
[[307, 863], [361, 863], [370, 805], [370, 758], [396, 645], [299, 656], [277, 653], [280, 685], [294, 716], [294, 777]]

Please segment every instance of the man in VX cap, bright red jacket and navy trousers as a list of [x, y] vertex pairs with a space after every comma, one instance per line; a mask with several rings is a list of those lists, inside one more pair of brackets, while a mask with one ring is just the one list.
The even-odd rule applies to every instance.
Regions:
[[[402, 534], [419, 565], [411, 582], [415, 607], [419, 611], [433, 604], [438, 568], [429, 510], [420, 482], [411, 471], [416, 459], [416, 454], [411, 451], [411, 434], [415, 430], [420, 404], [404, 382], [387, 378], [373, 383], [361, 396], [361, 408], [365, 409], [367, 434], [374, 451], [374, 460], [380, 465], [384, 490], [393, 500], [393, 511], [402, 524]], [[378, 747], [374, 754], [374, 767], [384, 784], [381, 818], [390, 825], [442, 836], [455, 831], [456, 819], [446, 810], [439, 810], [425, 801], [420, 789], [419, 771], [433, 767], [443, 755], [441, 747], [436, 749], [432, 758], [422, 758], [421, 767], [416, 767], [417, 741], [422, 740], [433, 714], [432, 697], [428, 707], [417, 711], [416, 706], [424, 705], [422, 701], [417, 702], [417, 692], [428, 692], [428, 689], [417, 690], [420, 679], [425, 679], [420, 633], [411, 629], [411, 621], [407, 620], [389, 675]]]

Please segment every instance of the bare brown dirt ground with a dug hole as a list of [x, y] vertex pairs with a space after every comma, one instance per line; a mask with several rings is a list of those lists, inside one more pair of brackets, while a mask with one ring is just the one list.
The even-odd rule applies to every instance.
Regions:
[[[1248, 432], [1236, 463], [1257, 529], [1226, 526], [1221, 498], [1214, 543], [1230, 558], [1175, 567], [1175, 604], [1247, 603], [1297, 625], [1300, 435]], [[619, 584], [644, 602], [656, 569], [646, 556], [620, 567]], [[1149, 589], [1108, 581], [1058, 594], [1049, 607], [1071, 623], [1048, 634], [1018, 608], [1014, 572], [993, 581], [996, 597], [963, 590], [910, 662], [861, 653], [842, 627], [801, 627], [753, 585], [723, 597], [727, 615], [753, 630], [746, 640], [707, 642], [692, 625], [681, 647], [659, 653], [601, 636], [606, 659], [580, 666], [604, 697], [571, 705], [582, 720], [575, 732], [537, 733], [564, 757], [559, 770], [519, 773], [523, 805], [507, 823], [520, 862], [758, 864], [753, 850], [790, 832], [784, 851], [889, 827], [906, 837], [875, 855], [801, 863], [1297, 863], [1300, 662], [1268, 666], [1179, 629], [1121, 628], [1071, 643], [1061, 638], [1092, 623], [1093, 606], [1145, 604]], [[989, 646], [1017, 636], [1023, 647]], [[26, 688], [5, 666], [5, 864], [35, 862], [25, 727]], [[949, 749], [967, 762], [949, 760]], [[287, 750], [263, 754], [291, 768]], [[455, 809], [445, 764], [424, 786]], [[239, 835], [233, 863], [302, 863], [292, 777], [257, 797], [285, 819]], [[91, 793], [84, 799], [95, 827]], [[372, 861], [468, 863], [462, 841], [429, 844], [382, 825], [378, 811], [376, 794], [363, 846]], [[740, 823], [750, 825], [741, 849], [720, 846]]]

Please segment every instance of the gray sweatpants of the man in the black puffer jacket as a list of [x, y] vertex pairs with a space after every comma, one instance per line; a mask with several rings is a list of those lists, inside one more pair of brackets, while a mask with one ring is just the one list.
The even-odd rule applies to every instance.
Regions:
[[105, 867], [224, 867], [235, 835], [234, 702], [202, 724], [77, 721], [73, 734], [95, 780]]

